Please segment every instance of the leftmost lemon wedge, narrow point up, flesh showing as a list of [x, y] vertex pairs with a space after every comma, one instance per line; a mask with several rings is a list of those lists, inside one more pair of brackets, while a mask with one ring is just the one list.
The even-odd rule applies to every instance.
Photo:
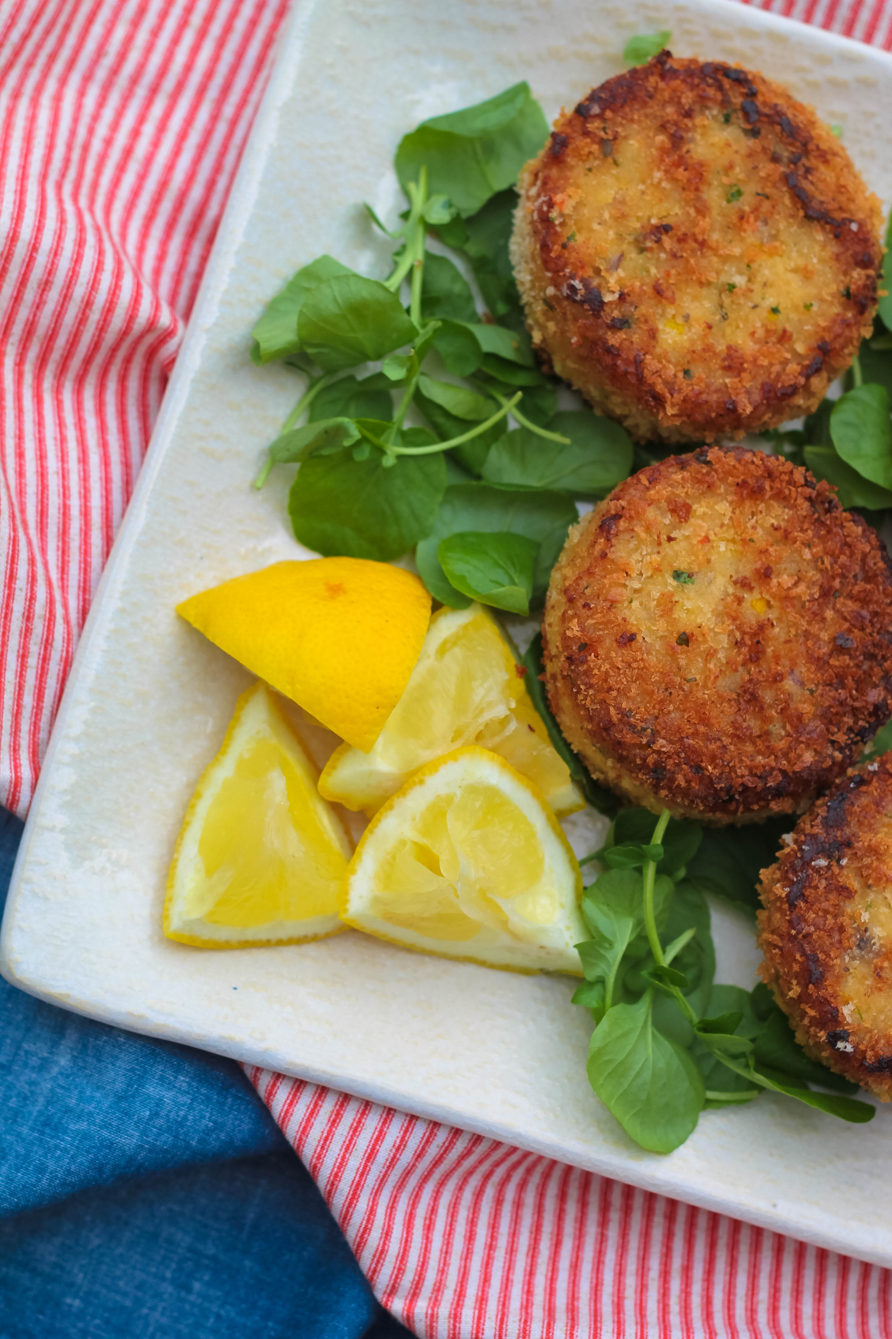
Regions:
[[245, 948], [344, 928], [337, 901], [352, 848], [317, 775], [266, 686], [242, 694], [177, 841], [169, 939]]

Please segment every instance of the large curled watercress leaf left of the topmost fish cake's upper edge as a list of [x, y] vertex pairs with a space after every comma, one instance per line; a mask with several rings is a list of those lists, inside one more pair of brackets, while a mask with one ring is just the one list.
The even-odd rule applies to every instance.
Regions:
[[432, 116], [400, 141], [396, 174], [405, 190], [428, 169], [432, 194], [448, 195], [460, 214], [475, 214], [546, 142], [548, 126], [526, 83], [495, 98]]

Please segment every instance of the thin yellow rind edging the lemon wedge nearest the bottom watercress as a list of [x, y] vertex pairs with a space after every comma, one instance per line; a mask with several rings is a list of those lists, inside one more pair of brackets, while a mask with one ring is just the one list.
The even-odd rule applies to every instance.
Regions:
[[[401, 787], [401, 790], [399, 790], [396, 793], [396, 795], [392, 795], [377, 810], [377, 813], [372, 818], [369, 826], [362, 833], [362, 837], [360, 838], [360, 842], [358, 842], [358, 845], [357, 845], [357, 848], [356, 848], [356, 850], [353, 853], [353, 858], [350, 860], [350, 864], [348, 865], [346, 873], [344, 876], [344, 882], [341, 885], [341, 890], [340, 890], [340, 896], [338, 896], [338, 915], [340, 915], [342, 923], [345, 925], [349, 925], [352, 929], [358, 929], [362, 933], [370, 935], [374, 939], [380, 939], [380, 940], [382, 940], [382, 941], [385, 941], [388, 944], [395, 944], [399, 948], [407, 948], [411, 952], [425, 953], [425, 955], [428, 955], [431, 957], [441, 957], [441, 959], [448, 959], [449, 961], [459, 961], [459, 963], [475, 963], [479, 967], [495, 967], [499, 971], [518, 972], [518, 973], [524, 975], [524, 976], [538, 976], [538, 975], [542, 975], [543, 972], [547, 972], [550, 975], [562, 975], [562, 976], [580, 977], [580, 976], [583, 976], [582, 965], [580, 964], [579, 965], [574, 964], [572, 967], [570, 967], [570, 965], [556, 967], [556, 965], [547, 965], [544, 963], [542, 965], [526, 965], [526, 964], [522, 964], [522, 963], [506, 963], [506, 961], [497, 961], [493, 957], [484, 956], [484, 955], [475, 955], [475, 953], [467, 953], [467, 952], [455, 953], [455, 952], [444, 951], [444, 948], [441, 948], [441, 947], [440, 948], [431, 947], [429, 943], [428, 944], [423, 944], [423, 943], [412, 941], [411, 939], [401, 937], [401, 935], [388, 932], [386, 929], [381, 929], [380, 927], [382, 924], [386, 925], [386, 923], [382, 923], [378, 917], [373, 917], [373, 920], [374, 920], [376, 924], [374, 924], [374, 927], [372, 927], [369, 924], [369, 920], [366, 920], [366, 919], [362, 917], [361, 909], [357, 912], [357, 911], [352, 909], [352, 907], [350, 907], [350, 900], [352, 900], [350, 898], [352, 881], [356, 877], [357, 872], [362, 866], [362, 860], [365, 857], [365, 852], [366, 852], [368, 846], [372, 844], [372, 841], [374, 840], [374, 834], [378, 832], [378, 829], [381, 828], [381, 825], [384, 822], [386, 822], [389, 814], [397, 806], [401, 806], [405, 802], [405, 799], [412, 794], [413, 790], [424, 786], [425, 782], [431, 777], [436, 775], [439, 771], [441, 771], [443, 769], [445, 769], [448, 765], [456, 762], [457, 759], [475, 758], [475, 757], [479, 758], [485, 765], [493, 765], [495, 763], [495, 766], [497, 767], [499, 771], [501, 771], [503, 774], [507, 773], [511, 777], [511, 779], [514, 781], [514, 783], [519, 785], [523, 790], [526, 790], [532, 797], [532, 799], [538, 803], [538, 806], [539, 806], [539, 809], [542, 811], [542, 817], [544, 818], [544, 821], [546, 821], [546, 823], [547, 823], [547, 826], [548, 826], [552, 837], [558, 841], [558, 844], [559, 844], [563, 854], [568, 860], [570, 868], [571, 868], [572, 874], [574, 874], [574, 882], [575, 882], [575, 889], [574, 889], [575, 904], [576, 904], [576, 908], [579, 907], [579, 904], [582, 902], [582, 870], [579, 868], [579, 862], [576, 861], [574, 850], [572, 850], [570, 842], [567, 841], [566, 833], [560, 828], [560, 823], [558, 822], [554, 811], [548, 806], [548, 802], [546, 801], [546, 798], [542, 794], [542, 791], [527, 777], [523, 777], [520, 773], [515, 771], [515, 769], [511, 767], [504, 761], [504, 758], [500, 758], [497, 754], [493, 754], [493, 753], [491, 753], [487, 749], [481, 749], [479, 744], [468, 744], [464, 749], [456, 749], [456, 750], [453, 750], [449, 754], [444, 754], [443, 757], [433, 759], [433, 762], [427, 763], [424, 767], [420, 767], [416, 773], [412, 774], [412, 777]], [[409, 935], [412, 932], [405, 931], [404, 933]], [[588, 937], [587, 932], [584, 929], [584, 924], [582, 923], [582, 919], [579, 920], [578, 933], [579, 933], [580, 939]], [[419, 936], [419, 939], [420, 937], [421, 936]], [[444, 944], [444, 943], [448, 943], [448, 941], [439, 940], [437, 943], [439, 944]]]

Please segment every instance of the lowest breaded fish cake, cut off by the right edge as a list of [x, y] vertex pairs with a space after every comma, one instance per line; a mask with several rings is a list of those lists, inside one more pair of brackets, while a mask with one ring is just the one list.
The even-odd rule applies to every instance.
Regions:
[[892, 1101], [892, 755], [857, 767], [762, 872], [762, 976], [797, 1040]]

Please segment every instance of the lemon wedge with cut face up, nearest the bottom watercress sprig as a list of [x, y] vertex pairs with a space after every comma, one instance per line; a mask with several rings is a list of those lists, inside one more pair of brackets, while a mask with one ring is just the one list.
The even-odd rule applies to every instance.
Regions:
[[350, 861], [341, 919], [441, 957], [580, 975], [582, 874], [542, 794], [471, 746], [423, 767]]

